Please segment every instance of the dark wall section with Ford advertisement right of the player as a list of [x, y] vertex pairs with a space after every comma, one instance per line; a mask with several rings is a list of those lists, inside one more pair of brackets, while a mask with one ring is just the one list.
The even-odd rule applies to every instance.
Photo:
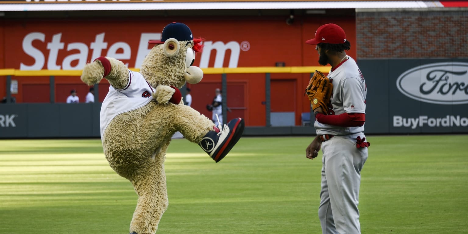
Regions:
[[468, 59], [362, 59], [367, 133], [468, 132]]

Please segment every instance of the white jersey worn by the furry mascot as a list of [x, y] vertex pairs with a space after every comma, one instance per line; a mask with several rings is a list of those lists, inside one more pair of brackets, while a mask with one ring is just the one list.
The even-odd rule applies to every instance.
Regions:
[[101, 106], [101, 139], [110, 121], [118, 114], [136, 110], [153, 100], [154, 88], [140, 73], [129, 72], [128, 84], [124, 89], [109, 87], [109, 93]]

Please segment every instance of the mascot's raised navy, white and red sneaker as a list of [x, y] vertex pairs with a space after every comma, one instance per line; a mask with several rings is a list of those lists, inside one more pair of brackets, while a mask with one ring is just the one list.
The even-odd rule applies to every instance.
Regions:
[[210, 157], [219, 162], [234, 147], [244, 132], [244, 120], [235, 118], [224, 124], [221, 131], [210, 131], [206, 133], [202, 141], [198, 144]]

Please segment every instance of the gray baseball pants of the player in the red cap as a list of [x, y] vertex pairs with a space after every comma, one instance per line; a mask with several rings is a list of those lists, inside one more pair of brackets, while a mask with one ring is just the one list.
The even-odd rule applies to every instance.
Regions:
[[334, 136], [322, 143], [322, 190], [319, 219], [322, 234], [360, 234], [359, 186], [367, 148], [357, 148], [364, 133]]

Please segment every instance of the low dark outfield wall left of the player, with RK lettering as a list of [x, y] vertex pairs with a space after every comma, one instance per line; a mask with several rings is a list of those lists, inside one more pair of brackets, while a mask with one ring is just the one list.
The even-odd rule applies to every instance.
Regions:
[[[101, 103], [0, 105], [0, 139], [98, 138]], [[244, 135], [313, 135], [313, 127], [246, 127]]]

